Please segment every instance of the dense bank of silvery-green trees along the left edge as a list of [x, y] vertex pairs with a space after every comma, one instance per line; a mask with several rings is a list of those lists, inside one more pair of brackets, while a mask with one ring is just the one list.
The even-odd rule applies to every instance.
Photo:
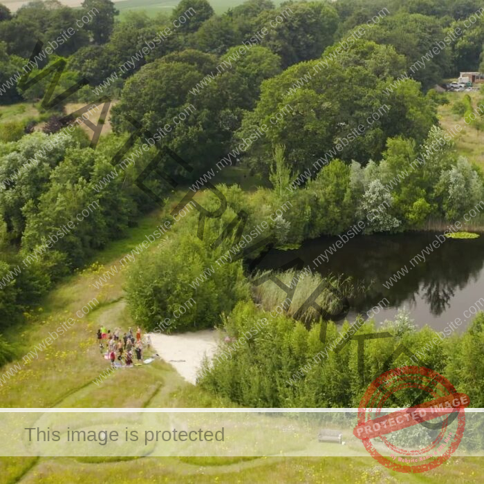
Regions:
[[118, 167], [119, 176], [102, 183], [125, 138], [105, 138], [96, 151], [87, 148], [82, 131], [32, 133], [1, 145], [2, 325], [155, 206], [135, 186], [154, 150], [142, 151], [136, 164]]

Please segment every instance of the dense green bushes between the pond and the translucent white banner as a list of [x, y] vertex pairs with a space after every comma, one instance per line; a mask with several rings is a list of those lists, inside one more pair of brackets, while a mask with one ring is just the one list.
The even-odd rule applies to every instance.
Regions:
[[[261, 323], [263, 318], [266, 320]], [[241, 303], [223, 318], [232, 342], [219, 345], [213, 363], [205, 364], [201, 384], [246, 407], [355, 408], [376, 376], [412, 364], [405, 354], [392, 360], [393, 352], [403, 344], [411, 355], [423, 350], [425, 366], [467, 393], [472, 407], [482, 407], [484, 387], [478, 375], [483, 375], [484, 368], [473, 355], [484, 350], [483, 324], [481, 313], [463, 335], [451, 335], [426, 351], [427, 342], [435, 337], [440, 341], [436, 331], [428, 326], [415, 331], [403, 313], [380, 328], [366, 322], [359, 335], [389, 331], [395, 337], [365, 341], [364, 375], [360, 375], [356, 342], [348, 342], [339, 352], [328, 347], [348, 331], [348, 323], [337, 328], [330, 322], [325, 343], [319, 338], [321, 323], [308, 330], [286, 315], [273, 317], [252, 303]], [[263, 331], [256, 333], [261, 327]], [[235, 345], [235, 340], [241, 343]], [[390, 364], [385, 366], [388, 360]], [[398, 406], [410, 407], [417, 395], [406, 396]]]

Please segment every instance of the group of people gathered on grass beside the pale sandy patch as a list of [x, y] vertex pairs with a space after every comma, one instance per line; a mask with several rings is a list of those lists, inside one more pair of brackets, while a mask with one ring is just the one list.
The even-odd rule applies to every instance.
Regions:
[[[115, 366], [115, 361], [124, 362], [126, 366], [133, 365], [133, 352], [136, 355], [136, 360], [140, 363], [143, 356], [143, 344], [141, 341], [141, 328], [138, 327], [135, 335], [133, 330], [129, 328], [128, 333], [124, 333], [120, 337], [121, 330], [116, 328], [113, 333], [111, 330], [106, 331], [106, 328], [97, 330], [97, 339], [99, 340], [100, 352], [104, 353], [104, 344], [106, 345], [107, 355], [111, 360], [111, 365]], [[118, 365], [119, 366], [119, 365]]]

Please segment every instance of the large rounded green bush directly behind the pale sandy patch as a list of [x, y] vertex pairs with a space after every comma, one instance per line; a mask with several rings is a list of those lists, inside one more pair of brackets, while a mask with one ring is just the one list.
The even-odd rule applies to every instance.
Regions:
[[248, 286], [241, 261], [214, 266], [203, 242], [183, 233], [140, 257], [129, 270], [127, 294], [134, 319], [149, 331], [171, 333], [215, 326], [223, 311], [248, 297]]

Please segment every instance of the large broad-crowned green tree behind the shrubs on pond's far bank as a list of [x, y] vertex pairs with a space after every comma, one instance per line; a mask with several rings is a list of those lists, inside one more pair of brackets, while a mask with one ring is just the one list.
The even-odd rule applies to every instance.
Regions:
[[320, 61], [301, 62], [263, 82], [257, 106], [236, 133], [240, 142], [266, 125], [266, 136], [248, 150], [248, 162], [259, 171], [267, 171], [278, 144], [286, 145], [295, 171], [318, 160], [320, 167], [335, 155], [348, 162], [379, 160], [388, 138], [421, 142], [436, 122], [435, 104], [413, 80], [385, 92], [403, 66], [391, 46], [362, 41], [333, 59], [330, 53], [334, 48]]

